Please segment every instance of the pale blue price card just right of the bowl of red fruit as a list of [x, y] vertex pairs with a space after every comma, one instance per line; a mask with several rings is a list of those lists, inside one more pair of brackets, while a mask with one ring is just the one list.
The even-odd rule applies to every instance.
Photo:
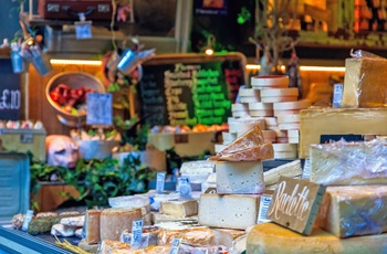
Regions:
[[86, 124], [94, 126], [113, 125], [113, 98], [111, 93], [88, 93], [87, 94]]

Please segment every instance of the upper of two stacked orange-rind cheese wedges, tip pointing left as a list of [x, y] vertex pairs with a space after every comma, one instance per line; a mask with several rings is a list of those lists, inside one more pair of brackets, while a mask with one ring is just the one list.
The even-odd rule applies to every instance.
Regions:
[[259, 126], [255, 126], [254, 128], [250, 129], [249, 131], [244, 133], [242, 136], [237, 138], [233, 142], [223, 148], [221, 151], [219, 151], [218, 156], [221, 157], [223, 155], [242, 151], [249, 148], [257, 147], [263, 142], [264, 138], [262, 130]]

